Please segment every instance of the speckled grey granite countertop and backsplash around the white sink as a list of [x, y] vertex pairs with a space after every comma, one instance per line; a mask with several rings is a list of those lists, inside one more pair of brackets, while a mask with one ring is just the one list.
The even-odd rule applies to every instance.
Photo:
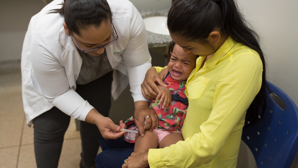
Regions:
[[[150, 10], [140, 10], [139, 11], [143, 18], [151, 17], [151, 16], [167, 16], [169, 9], [150, 9]], [[148, 40], [148, 47], [164, 47], [168, 46], [169, 43], [172, 41], [171, 36], [152, 33], [147, 31], [147, 40]]]

